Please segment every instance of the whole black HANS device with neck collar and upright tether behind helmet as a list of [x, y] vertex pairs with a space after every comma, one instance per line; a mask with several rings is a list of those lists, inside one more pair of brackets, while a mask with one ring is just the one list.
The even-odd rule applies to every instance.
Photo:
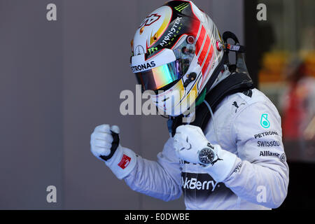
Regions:
[[[235, 45], [228, 44], [228, 39], [230, 38], [235, 42]], [[223, 43], [220, 43], [219, 47], [224, 50], [223, 59], [216, 67], [205, 87], [207, 94], [204, 100], [208, 102], [213, 111], [216, 111], [216, 106], [218, 106], [218, 104], [220, 104], [220, 102], [228, 95], [235, 94], [237, 92], [244, 92], [246, 96], [251, 97], [251, 89], [253, 89], [253, 80], [251, 80], [251, 77], [248, 74], [244, 59], [245, 47], [239, 45], [237, 36], [230, 31], [225, 31], [223, 34]], [[230, 51], [235, 52], [236, 64], [230, 64], [229, 62], [228, 54]], [[218, 74], [222, 69], [224, 69], [224, 64], [228, 65], [231, 72], [230, 76], [211, 89], [214, 81], [218, 78]], [[190, 125], [200, 127], [202, 131], [204, 131], [204, 128], [209, 123], [210, 118], [211, 113], [207, 105], [202, 103], [196, 107], [195, 120], [193, 123], [190, 123]], [[167, 126], [169, 128], [169, 132], [172, 134], [172, 137], [174, 137], [177, 127], [187, 124], [183, 123], [182, 120], [183, 115], [169, 118]]]

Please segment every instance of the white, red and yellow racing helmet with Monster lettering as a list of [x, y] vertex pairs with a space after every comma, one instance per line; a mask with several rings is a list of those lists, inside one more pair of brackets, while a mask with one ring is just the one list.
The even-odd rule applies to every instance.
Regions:
[[131, 42], [132, 72], [143, 92], [152, 91], [160, 111], [179, 116], [221, 71], [221, 43], [214, 22], [192, 1], [168, 1], [138, 27]]

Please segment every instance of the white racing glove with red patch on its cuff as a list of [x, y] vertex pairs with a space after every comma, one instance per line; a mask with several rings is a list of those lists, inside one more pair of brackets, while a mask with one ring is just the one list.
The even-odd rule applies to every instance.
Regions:
[[119, 127], [99, 125], [91, 134], [91, 152], [118, 177], [125, 178], [137, 163], [136, 154], [119, 144]]

